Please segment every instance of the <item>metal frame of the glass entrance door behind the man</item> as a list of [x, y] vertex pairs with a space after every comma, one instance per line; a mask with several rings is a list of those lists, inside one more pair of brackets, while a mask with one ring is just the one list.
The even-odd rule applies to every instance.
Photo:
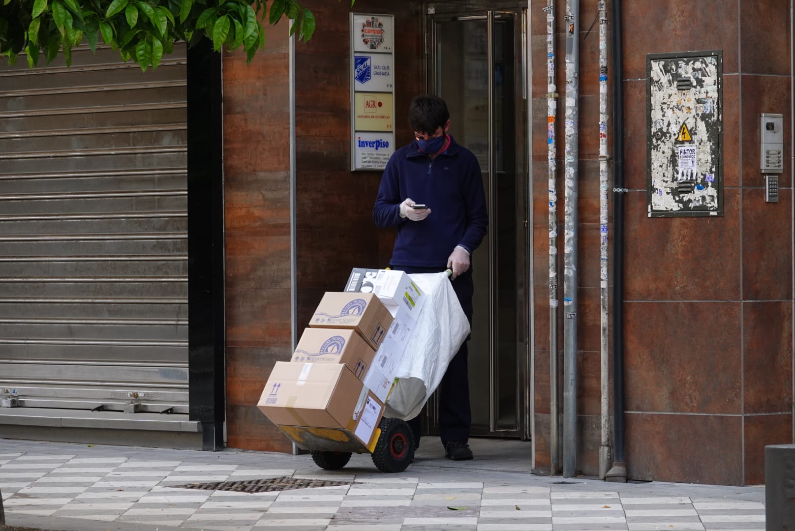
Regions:
[[[473, 428], [472, 435], [475, 436], [506, 436], [518, 437], [522, 439], [532, 439], [533, 436], [533, 230], [532, 225], [529, 223], [529, 215], [532, 208], [532, 184], [530, 181], [531, 172], [530, 157], [531, 148], [529, 142], [530, 134], [530, 85], [529, 85], [529, 11], [527, 9], [528, 2], [490, 2], [497, 4], [497, 6], [471, 6], [471, 4], [464, 5], [463, 2], [445, 2], [444, 4], [429, 4], [425, 6], [423, 13], [423, 30], [425, 33], [425, 86], [429, 94], [436, 93], [436, 23], [445, 21], [465, 21], [465, 20], [485, 20], [487, 21], [487, 60], [488, 60], [488, 100], [489, 100], [489, 222], [490, 227], [493, 227], [492, 215], [494, 213], [494, 194], [491, 189], [494, 184], [494, 172], [496, 170], [496, 153], [494, 150], [494, 54], [492, 52], [493, 46], [493, 25], [494, 18], [502, 16], [511, 16], [514, 18], [514, 57], [516, 58], [516, 69], [514, 72], [515, 87], [514, 87], [514, 106], [517, 112], [515, 113], [516, 122], [514, 124], [516, 131], [516, 180], [517, 180], [517, 219], [516, 223], [521, 223], [524, 228], [522, 240], [524, 242], [524, 252], [517, 254], [519, 262], [517, 264], [517, 281], [519, 285], [523, 285], [523, 298], [524, 300], [518, 301], [518, 315], [517, 315], [517, 360], [518, 366], [516, 367], [518, 373], [517, 380], [517, 422], [518, 426], [515, 430], [496, 430], [495, 423], [495, 404], [494, 404], [494, 356], [495, 356], [495, 339], [494, 332], [494, 269], [495, 269], [495, 254], [494, 254], [494, 239], [490, 238], [491, 249], [489, 259], [489, 288], [491, 292], [490, 309], [489, 309], [489, 334], [490, 341], [490, 426], [489, 430], [484, 432], [481, 429]], [[518, 231], [522, 234], [522, 231]], [[429, 410], [436, 411], [437, 401], [436, 394], [429, 401]], [[436, 415], [430, 414], [428, 416], [429, 424], [433, 428], [438, 428], [436, 425]]]

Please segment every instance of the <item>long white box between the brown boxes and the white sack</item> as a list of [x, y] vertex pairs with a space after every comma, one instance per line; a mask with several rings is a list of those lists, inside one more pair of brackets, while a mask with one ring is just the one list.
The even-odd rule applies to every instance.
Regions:
[[381, 347], [375, 352], [375, 358], [362, 380], [364, 386], [375, 393], [382, 402], [386, 402], [386, 398], [389, 397], [397, 369], [405, 355], [405, 347], [416, 326], [417, 321], [412, 319], [409, 312], [405, 308], [398, 308], [390, 330], [386, 333]]

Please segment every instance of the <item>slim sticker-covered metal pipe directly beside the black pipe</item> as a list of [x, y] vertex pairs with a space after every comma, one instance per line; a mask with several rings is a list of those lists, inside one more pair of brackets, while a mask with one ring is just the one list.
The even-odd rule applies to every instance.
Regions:
[[610, 339], [607, 319], [607, 2], [599, 9], [599, 302], [601, 306], [602, 445], [599, 479], [610, 467]]

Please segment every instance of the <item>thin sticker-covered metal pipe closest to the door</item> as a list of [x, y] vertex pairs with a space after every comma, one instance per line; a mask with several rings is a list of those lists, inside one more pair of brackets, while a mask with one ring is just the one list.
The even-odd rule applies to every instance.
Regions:
[[560, 471], [560, 433], [557, 403], [557, 153], [555, 118], [555, 0], [547, 0], [547, 161], [549, 163], [549, 473]]

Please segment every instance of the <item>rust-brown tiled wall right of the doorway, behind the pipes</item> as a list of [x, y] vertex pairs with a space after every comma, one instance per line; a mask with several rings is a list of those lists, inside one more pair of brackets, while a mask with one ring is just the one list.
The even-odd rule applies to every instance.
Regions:
[[[754, 484], [764, 481], [763, 448], [792, 442], [792, 188], [789, 157], [781, 200], [764, 202], [758, 172], [759, 114], [791, 117], [789, 7], [778, 0], [622, 2], [626, 219], [624, 355], [626, 457], [632, 479]], [[581, 21], [592, 7], [582, 6]], [[559, 10], [558, 16], [562, 13]], [[560, 21], [560, 18], [559, 18]], [[639, 23], [640, 21], [646, 21]], [[653, 21], [653, 23], [648, 23]], [[562, 25], [558, 25], [562, 27]], [[583, 34], [587, 25], [581, 25]], [[545, 17], [533, 13], [533, 64], [545, 60]], [[561, 38], [558, 41], [562, 43]], [[764, 45], [761, 43], [764, 42]], [[595, 131], [596, 39], [580, 41], [580, 124]], [[723, 50], [722, 218], [646, 216], [646, 54]], [[560, 47], [559, 47], [560, 50]], [[562, 52], [560, 52], [562, 54]], [[560, 60], [562, 66], [563, 61]], [[613, 72], [610, 72], [612, 76]], [[534, 192], [545, 196], [545, 76], [535, 76]], [[558, 88], [564, 90], [559, 77]], [[590, 125], [588, 125], [590, 124]], [[588, 238], [598, 181], [591, 138], [580, 136], [580, 314], [598, 315], [589, 278], [598, 264]], [[613, 134], [608, 131], [608, 135]], [[558, 150], [559, 159], [562, 147]], [[549, 305], [546, 208], [533, 212], [537, 238], [537, 467], [549, 467]], [[595, 241], [595, 236], [591, 237]], [[611, 300], [611, 304], [615, 301]], [[598, 320], [580, 319], [580, 424], [598, 414]], [[595, 338], [593, 337], [595, 335]], [[592, 339], [593, 338], [593, 339]], [[562, 346], [562, 342], [560, 343]], [[584, 396], [583, 396], [584, 393]], [[599, 433], [580, 432], [578, 463], [594, 473]]]

